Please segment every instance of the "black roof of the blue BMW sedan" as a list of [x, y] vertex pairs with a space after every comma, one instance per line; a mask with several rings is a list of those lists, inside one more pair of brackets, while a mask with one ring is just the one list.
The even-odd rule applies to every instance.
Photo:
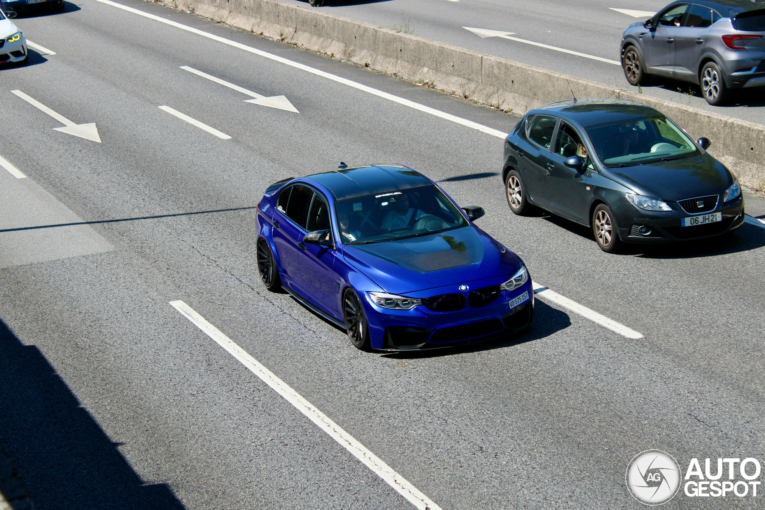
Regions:
[[369, 164], [311, 174], [306, 178], [326, 187], [335, 200], [432, 184], [424, 175], [401, 165]]

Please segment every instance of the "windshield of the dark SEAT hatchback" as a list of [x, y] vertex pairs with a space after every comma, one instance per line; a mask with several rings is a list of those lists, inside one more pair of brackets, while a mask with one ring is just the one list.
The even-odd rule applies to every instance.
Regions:
[[629, 119], [585, 128], [606, 167], [653, 163], [698, 154], [693, 141], [666, 117]]

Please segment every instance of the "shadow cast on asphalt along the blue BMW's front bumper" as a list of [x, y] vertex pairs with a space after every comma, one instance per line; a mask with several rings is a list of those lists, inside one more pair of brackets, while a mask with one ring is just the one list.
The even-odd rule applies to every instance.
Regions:
[[454, 356], [455, 354], [466, 354], [469, 352], [480, 352], [493, 349], [505, 349], [546, 338], [554, 333], [558, 333], [560, 330], [565, 330], [568, 326], [571, 326], [571, 317], [568, 317], [568, 313], [553, 308], [544, 301], [537, 299], [535, 300], [534, 305], [534, 323], [532, 326], [520, 333], [511, 334], [509, 338], [494, 339], [483, 343], [477, 343], [472, 346], [454, 347], [451, 349], [385, 352], [381, 353], [380, 356], [392, 359], [418, 359], [433, 358], [437, 356]]

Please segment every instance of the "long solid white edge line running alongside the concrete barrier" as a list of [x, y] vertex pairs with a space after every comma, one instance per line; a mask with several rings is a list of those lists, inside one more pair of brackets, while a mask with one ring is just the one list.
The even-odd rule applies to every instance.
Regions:
[[229, 46], [239, 48], [240, 50], [249, 51], [249, 53], [256, 54], [271, 60], [275, 60], [276, 62], [284, 63], [285, 65], [295, 67], [300, 70], [304, 70], [307, 73], [312, 73], [317, 76], [321, 76], [323, 78], [326, 78], [327, 80], [332, 80], [337, 83], [343, 83], [343, 85], [351, 86], [354, 89], [363, 90], [364, 92], [373, 94], [374, 96], [382, 97], [383, 99], [388, 99], [389, 101], [392, 101], [392, 102], [397, 102], [399, 103], [399, 105], [409, 106], [409, 108], [413, 108], [415, 110], [419, 110], [420, 112], [425, 112], [431, 115], [435, 115], [436, 117], [440, 117], [441, 119], [446, 119], [451, 122], [456, 122], [457, 124], [464, 125], [467, 128], [472, 128], [472, 129], [476, 129], [477, 131], [487, 133], [488, 135], [493, 135], [498, 138], [506, 138], [507, 136], [507, 133], [503, 133], [498, 129], [490, 128], [488, 126], [481, 125], [481, 124], [478, 124], [477, 122], [473, 122], [467, 119], [462, 119], [461, 117], [457, 117], [457, 115], [451, 115], [451, 113], [441, 112], [441, 110], [431, 108], [430, 106], [421, 105], [418, 102], [409, 101], [409, 99], [404, 99], [399, 96], [394, 96], [393, 94], [382, 92], [382, 90], [373, 89], [370, 86], [362, 85], [361, 83], [356, 83], [352, 80], [347, 80], [345, 78], [341, 78], [340, 76], [335, 76], [334, 74], [330, 74], [322, 70], [314, 69], [314, 67], [309, 67], [302, 63], [288, 60], [284, 57], [278, 57], [277, 55], [269, 54], [265, 51], [258, 50], [253, 47], [249, 47], [246, 44], [237, 43], [236, 41], [231, 41], [230, 39], [226, 39], [224, 37], [219, 37], [217, 35], [210, 34], [210, 32], [201, 31], [197, 28], [193, 28], [185, 24], [177, 23], [176, 21], [160, 18], [159, 16], [151, 15], [151, 14], [148, 14], [148, 12], [139, 11], [138, 9], [128, 7], [127, 5], [118, 4], [117, 2], [112, 2], [111, 0], [96, 0], [96, 2], [112, 5], [113, 7], [120, 8], [124, 11], [129, 11], [129, 12], [132, 12], [133, 14], [137, 14], [145, 18], [150, 18], [164, 24], [169, 24], [175, 28], [181, 28], [181, 30], [189, 31], [194, 34], [201, 35], [202, 37], [207, 37], [208, 39], [212, 39], [213, 41], [218, 41], [223, 44], [228, 44]]

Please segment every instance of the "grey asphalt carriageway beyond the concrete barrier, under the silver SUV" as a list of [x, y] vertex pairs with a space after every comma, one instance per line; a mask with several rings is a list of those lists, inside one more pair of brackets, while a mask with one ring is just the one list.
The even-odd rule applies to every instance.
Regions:
[[[308, 2], [302, 0], [278, 2], [308, 8]], [[637, 87], [627, 82], [616, 63], [578, 57], [529, 43], [547, 44], [618, 62], [624, 29], [635, 21], [645, 21], [668, 4], [669, 0], [327, 0], [327, 5], [318, 9], [638, 92]], [[480, 37], [464, 27], [512, 32], [509, 37], [516, 40]], [[642, 90], [650, 96], [765, 124], [763, 89], [743, 90], [727, 106], [710, 106], [702, 98], [698, 86], [677, 80], [656, 78]]]

